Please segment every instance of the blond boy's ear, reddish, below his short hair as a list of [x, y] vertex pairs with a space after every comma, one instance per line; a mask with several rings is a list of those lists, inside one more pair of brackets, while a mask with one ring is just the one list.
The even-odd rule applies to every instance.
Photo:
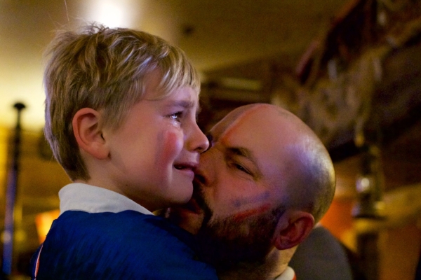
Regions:
[[102, 137], [101, 115], [91, 108], [83, 108], [74, 114], [73, 133], [79, 147], [99, 160], [108, 156], [108, 148]]

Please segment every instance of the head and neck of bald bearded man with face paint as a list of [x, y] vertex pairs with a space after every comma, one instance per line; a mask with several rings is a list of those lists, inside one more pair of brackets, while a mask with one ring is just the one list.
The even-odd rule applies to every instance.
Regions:
[[312, 130], [269, 104], [242, 106], [209, 132], [194, 194], [169, 211], [220, 279], [295, 279], [288, 262], [326, 213], [333, 164]]

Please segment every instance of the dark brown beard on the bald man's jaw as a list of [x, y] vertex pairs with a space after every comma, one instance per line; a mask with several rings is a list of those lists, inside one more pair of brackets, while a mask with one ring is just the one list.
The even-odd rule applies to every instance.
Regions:
[[196, 202], [204, 212], [204, 219], [195, 236], [199, 258], [219, 272], [227, 272], [243, 265], [261, 265], [272, 251], [272, 238], [285, 207], [238, 221], [234, 216], [214, 218], [213, 211], [197, 190]]

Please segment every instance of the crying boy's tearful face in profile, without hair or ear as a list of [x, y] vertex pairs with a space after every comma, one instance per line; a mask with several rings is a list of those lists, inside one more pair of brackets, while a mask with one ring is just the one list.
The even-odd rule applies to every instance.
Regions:
[[108, 131], [107, 170], [115, 191], [155, 211], [192, 196], [193, 169], [208, 139], [196, 124], [196, 92], [182, 87], [156, 99], [160, 76], [149, 77], [145, 97], [118, 130]]

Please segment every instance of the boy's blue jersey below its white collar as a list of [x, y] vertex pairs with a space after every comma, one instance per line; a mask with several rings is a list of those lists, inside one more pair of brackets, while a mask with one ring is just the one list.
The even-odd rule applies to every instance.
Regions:
[[77, 279], [216, 279], [191, 246], [188, 232], [158, 216], [65, 211], [48, 232], [39, 273]]

